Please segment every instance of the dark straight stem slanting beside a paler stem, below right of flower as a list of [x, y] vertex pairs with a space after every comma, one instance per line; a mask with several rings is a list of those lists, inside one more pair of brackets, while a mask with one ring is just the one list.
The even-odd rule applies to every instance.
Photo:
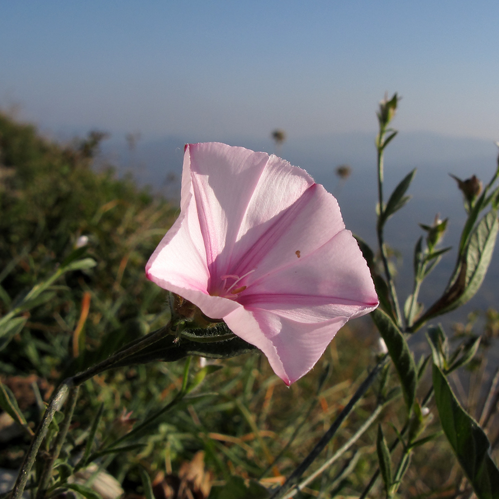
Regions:
[[362, 382], [362, 384], [357, 388], [357, 391], [353, 394], [352, 398], [349, 400], [348, 404], [343, 408], [338, 417], [334, 420], [333, 424], [329, 427], [329, 430], [322, 436], [317, 445], [312, 449], [310, 454], [298, 465], [298, 467], [291, 473], [284, 484], [279, 487], [270, 499], [282, 499], [284, 498], [287, 491], [294, 487], [300, 477], [305, 473], [308, 467], [317, 459], [319, 454], [324, 450], [329, 441], [334, 437], [339, 427], [347, 416], [352, 412], [355, 404], [364, 396], [369, 387], [373, 384], [377, 375], [383, 368], [383, 366], [388, 361], [388, 355], [385, 355], [374, 367], [374, 369], [369, 373], [367, 378]]

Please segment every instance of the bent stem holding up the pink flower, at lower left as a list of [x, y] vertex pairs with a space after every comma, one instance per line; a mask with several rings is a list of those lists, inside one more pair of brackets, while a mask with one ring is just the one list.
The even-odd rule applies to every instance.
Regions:
[[[86, 380], [92, 378], [96, 374], [100, 374], [107, 369], [111, 369], [113, 365], [117, 362], [125, 359], [126, 357], [133, 355], [134, 353], [139, 352], [140, 350], [152, 345], [156, 341], [159, 341], [161, 338], [164, 338], [168, 334], [175, 334], [175, 331], [170, 329], [171, 322], [166, 326], [153, 331], [148, 334], [144, 338], [141, 338], [138, 341], [133, 341], [131, 346], [125, 347], [120, 350], [118, 353], [112, 355], [108, 359], [100, 362], [94, 367], [90, 367], [86, 371], [82, 373], [78, 373], [75, 376], [65, 379], [54, 392], [47, 409], [45, 410], [45, 414], [43, 415], [43, 419], [41, 420], [38, 429], [31, 441], [31, 445], [24, 457], [24, 461], [22, 463], [21, 469], [19, 471], [19, 475], [17, 476], [17, 480], [15, 482], [14, 488], [10, 494], [10, 499], [20, 499], [22, 493], [24, 492], [24, 488], [26, 487], [26, 483], [35, 462], [36, 456], [40, 449], [41, 443], [45, 438], [48, 427], [55, 415], [55, 413], [62, 407], [64, 401], [68, 396], [68, 392], [71, 391], [74, 387], [81, 385], [81, 383]], [[62, 445], [62, 444], [61, 444]]]

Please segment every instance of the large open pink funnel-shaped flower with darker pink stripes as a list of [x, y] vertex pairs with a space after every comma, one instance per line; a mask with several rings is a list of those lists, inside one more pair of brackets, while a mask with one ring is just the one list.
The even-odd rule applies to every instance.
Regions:
[[378, 306], [334, 197], [276, 156], [216, 142], [186, 145], [180, 216], [146, 273], [223, 319], [287, 385]]

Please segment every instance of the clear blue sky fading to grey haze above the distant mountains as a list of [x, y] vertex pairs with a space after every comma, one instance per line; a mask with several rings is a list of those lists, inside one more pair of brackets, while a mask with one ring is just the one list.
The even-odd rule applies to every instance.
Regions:
[[56, 135], [499, 139], [499, 2], [0, 0], [0, 107]]

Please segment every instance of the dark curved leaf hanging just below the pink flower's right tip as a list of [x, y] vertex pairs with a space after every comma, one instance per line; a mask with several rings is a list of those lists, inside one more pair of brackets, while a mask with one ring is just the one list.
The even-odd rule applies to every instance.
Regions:
[[371, 312], [371, 317], [376, 324], [382, 338], [385, 340], [388, 353], [392, 358], [395, 369], [400, 377], [404, 399], [409, 412], [412, 411], [418, 374], [414, 357], [409, 346], [395, 322], [379, 308]]

